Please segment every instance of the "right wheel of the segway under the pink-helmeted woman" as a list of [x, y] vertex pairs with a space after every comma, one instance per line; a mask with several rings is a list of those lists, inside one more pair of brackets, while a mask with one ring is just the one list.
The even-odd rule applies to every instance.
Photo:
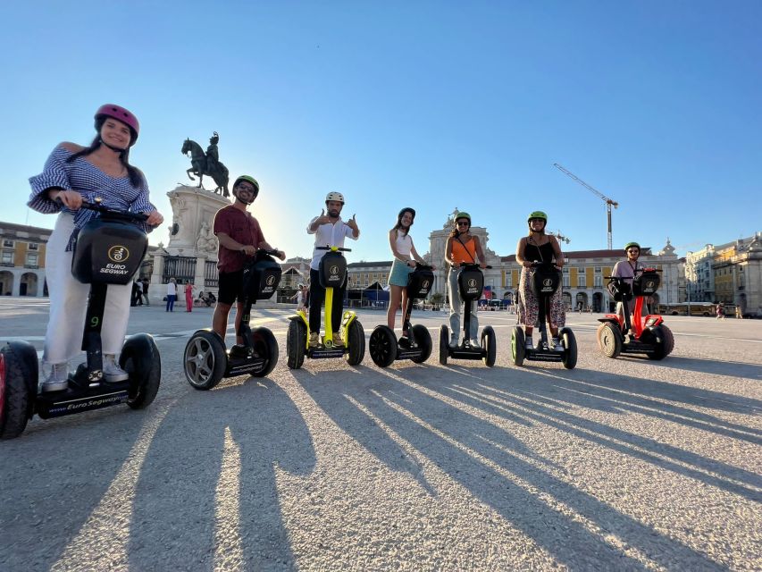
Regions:
[[162, 357], [154, 338], [147, 333], [130, 336], [121, 347], [119, 366], [130, 374], [127, 405], [133, 409], [147, 408], [162, 383]]

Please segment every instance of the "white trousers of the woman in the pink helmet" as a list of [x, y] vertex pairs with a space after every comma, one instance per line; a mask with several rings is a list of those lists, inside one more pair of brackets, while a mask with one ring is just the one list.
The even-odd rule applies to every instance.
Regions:
[[[82, 349], [82, 332], [88, 309], [89, 284], [83, 284], [71, 275], [72, 252], [66, 252], [74, 216], [61, 213], [55, 222], [46, 248], [47, 289], [50, 292], [50, 319], [45, 334], [44, 364], [61, 364], [76, 357]], [[103, 353], [121, 352], [127, 321], [130, 319], [132, 281], [127, 284], [109, 284], [101, 341]]]

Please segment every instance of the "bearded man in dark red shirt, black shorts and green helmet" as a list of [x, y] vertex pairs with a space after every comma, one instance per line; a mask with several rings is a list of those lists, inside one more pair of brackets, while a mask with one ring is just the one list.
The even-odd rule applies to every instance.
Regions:
[[[214, 235], [220, 242], [217, 258], [220, 291], [217, 306], [214, 307], [212, 330], [217, 332], [223, 341], [228, 330], [230, 307], [236, 299], [238, 299], [236, 332], [239, 331], [241, 315], [243, 315], [241, 300], [243, 269], [247, 264], [247, 257], [253, 257], [257, 248], [274, 249], [264, 240], [259, 223], [247, 211], [247, 206], [251, 205], [259, 194], [259, 183], [254, 177], [241, 175], [233, 183], [232, 192], [233, 197], [236, 198], [235, 202], [230, 206], [222, 207], [214, 215]], [[279, 250], [278, 257], [285, 260], [286, 254]], [[237, 337], [236, 342], [242, 344], [243, 339]]]

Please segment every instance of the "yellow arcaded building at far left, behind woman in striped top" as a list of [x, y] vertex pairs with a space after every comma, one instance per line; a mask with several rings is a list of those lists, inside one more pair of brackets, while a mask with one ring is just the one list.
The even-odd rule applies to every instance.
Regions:
[[0, 222], [0, 295], [47, 296], [45, 255], [51, 233]]

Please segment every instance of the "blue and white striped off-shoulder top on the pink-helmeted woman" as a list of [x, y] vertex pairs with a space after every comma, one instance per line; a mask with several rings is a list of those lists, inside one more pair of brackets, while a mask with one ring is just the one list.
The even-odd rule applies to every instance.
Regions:
[[[148, 200], [148, 185], [143, 179], [139, 187], [133, 187], [130, 177], [110, 177], [90, 163], [85, 157], [77, 157], [71, 163], [66, 163], [71, 151], [63, 147], [55, 147], [53, 153], [47, 157], [45, 168], [40, 174], [29, 178], [32, 193], [29, 196], [27, 206], [39, 213], [54, 214], [60, 211], [74, 215], [74, 226], [67, 250], [74, 248], [77, 234], [88, 221], [98, 214], [88, 209], [71, 211], [65, 206], [59, 205], [47, 196], [47, 189], [60, 187], [64, 190], [76, 190], [87, 201], [94, 202], [96, 197], [103, 198], [104, 206], [129, 210], [133, 213], [150, 213], [155, 211]], [[144, 231], [150, 232], [153, 227], [145, 223], [137, 223]]]

